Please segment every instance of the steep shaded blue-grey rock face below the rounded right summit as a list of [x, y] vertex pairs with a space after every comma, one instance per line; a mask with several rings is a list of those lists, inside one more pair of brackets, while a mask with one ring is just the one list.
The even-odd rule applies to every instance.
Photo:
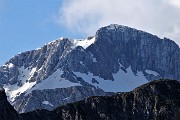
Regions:
[[[87, 50], [99, 61], [97, 67], [100, 70], [92, 68], [92, 72], [106, 79], [113, 79], [111, 74], [116, 73], [118, 62], [125, 69], [131, 66], [134, 73], [142, 71], [148, 80], [180, 79], [180, 49], [167, 38], [159, 39], [143, 31], [111, 25], [97, 31], [95, 44]], [[146, 70], [156, 71], [159, 75], [153, 76]]]

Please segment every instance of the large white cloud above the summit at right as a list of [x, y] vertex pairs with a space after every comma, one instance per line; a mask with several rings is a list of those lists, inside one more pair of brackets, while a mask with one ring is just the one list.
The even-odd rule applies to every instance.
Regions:
[[58, 21], [86, 35], [117, 23], [170, 37], [180, 44], [180, 0], [65, 0]]

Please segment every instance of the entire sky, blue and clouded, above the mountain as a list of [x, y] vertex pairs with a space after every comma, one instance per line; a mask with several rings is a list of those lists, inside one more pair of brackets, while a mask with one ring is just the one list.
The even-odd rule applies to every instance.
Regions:
[[180, 45], [180, 0], [0, 0], [0, 65], [60, 38], [86, 38], [109, 24]]

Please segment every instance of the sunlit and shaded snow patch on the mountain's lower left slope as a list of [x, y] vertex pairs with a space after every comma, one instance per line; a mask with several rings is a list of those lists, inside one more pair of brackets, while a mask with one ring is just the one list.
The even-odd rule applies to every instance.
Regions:
[[33, 90], [44, 90], [44, 89], [55, 89], [55, 88], [67, 88], [72, 86], [82, 86], [79, 83], [73, 83], [69, 80], [65, 80], [61, 78], [63, 71], [60, 69], [54, 72], [51, 76], [47, 79], [42, 80], [40, 83], [30, 82], [30, 79], [33, 77], [34, 73], [36, 72], [36, 68], [24, 68], [20, 67], [18, 82], [14, 85], [4, 85], [3, 88], [6, 91], [8, 96], [8, 100], [13, 102], [17, 96], [21, 93], [29, 94]]

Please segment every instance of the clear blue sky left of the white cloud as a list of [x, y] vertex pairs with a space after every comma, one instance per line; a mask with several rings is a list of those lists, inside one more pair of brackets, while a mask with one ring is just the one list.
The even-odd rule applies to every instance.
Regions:
[[61, 36], [79, 38], [56, 22], [61, 0], [0, 0], [0, 65]]

